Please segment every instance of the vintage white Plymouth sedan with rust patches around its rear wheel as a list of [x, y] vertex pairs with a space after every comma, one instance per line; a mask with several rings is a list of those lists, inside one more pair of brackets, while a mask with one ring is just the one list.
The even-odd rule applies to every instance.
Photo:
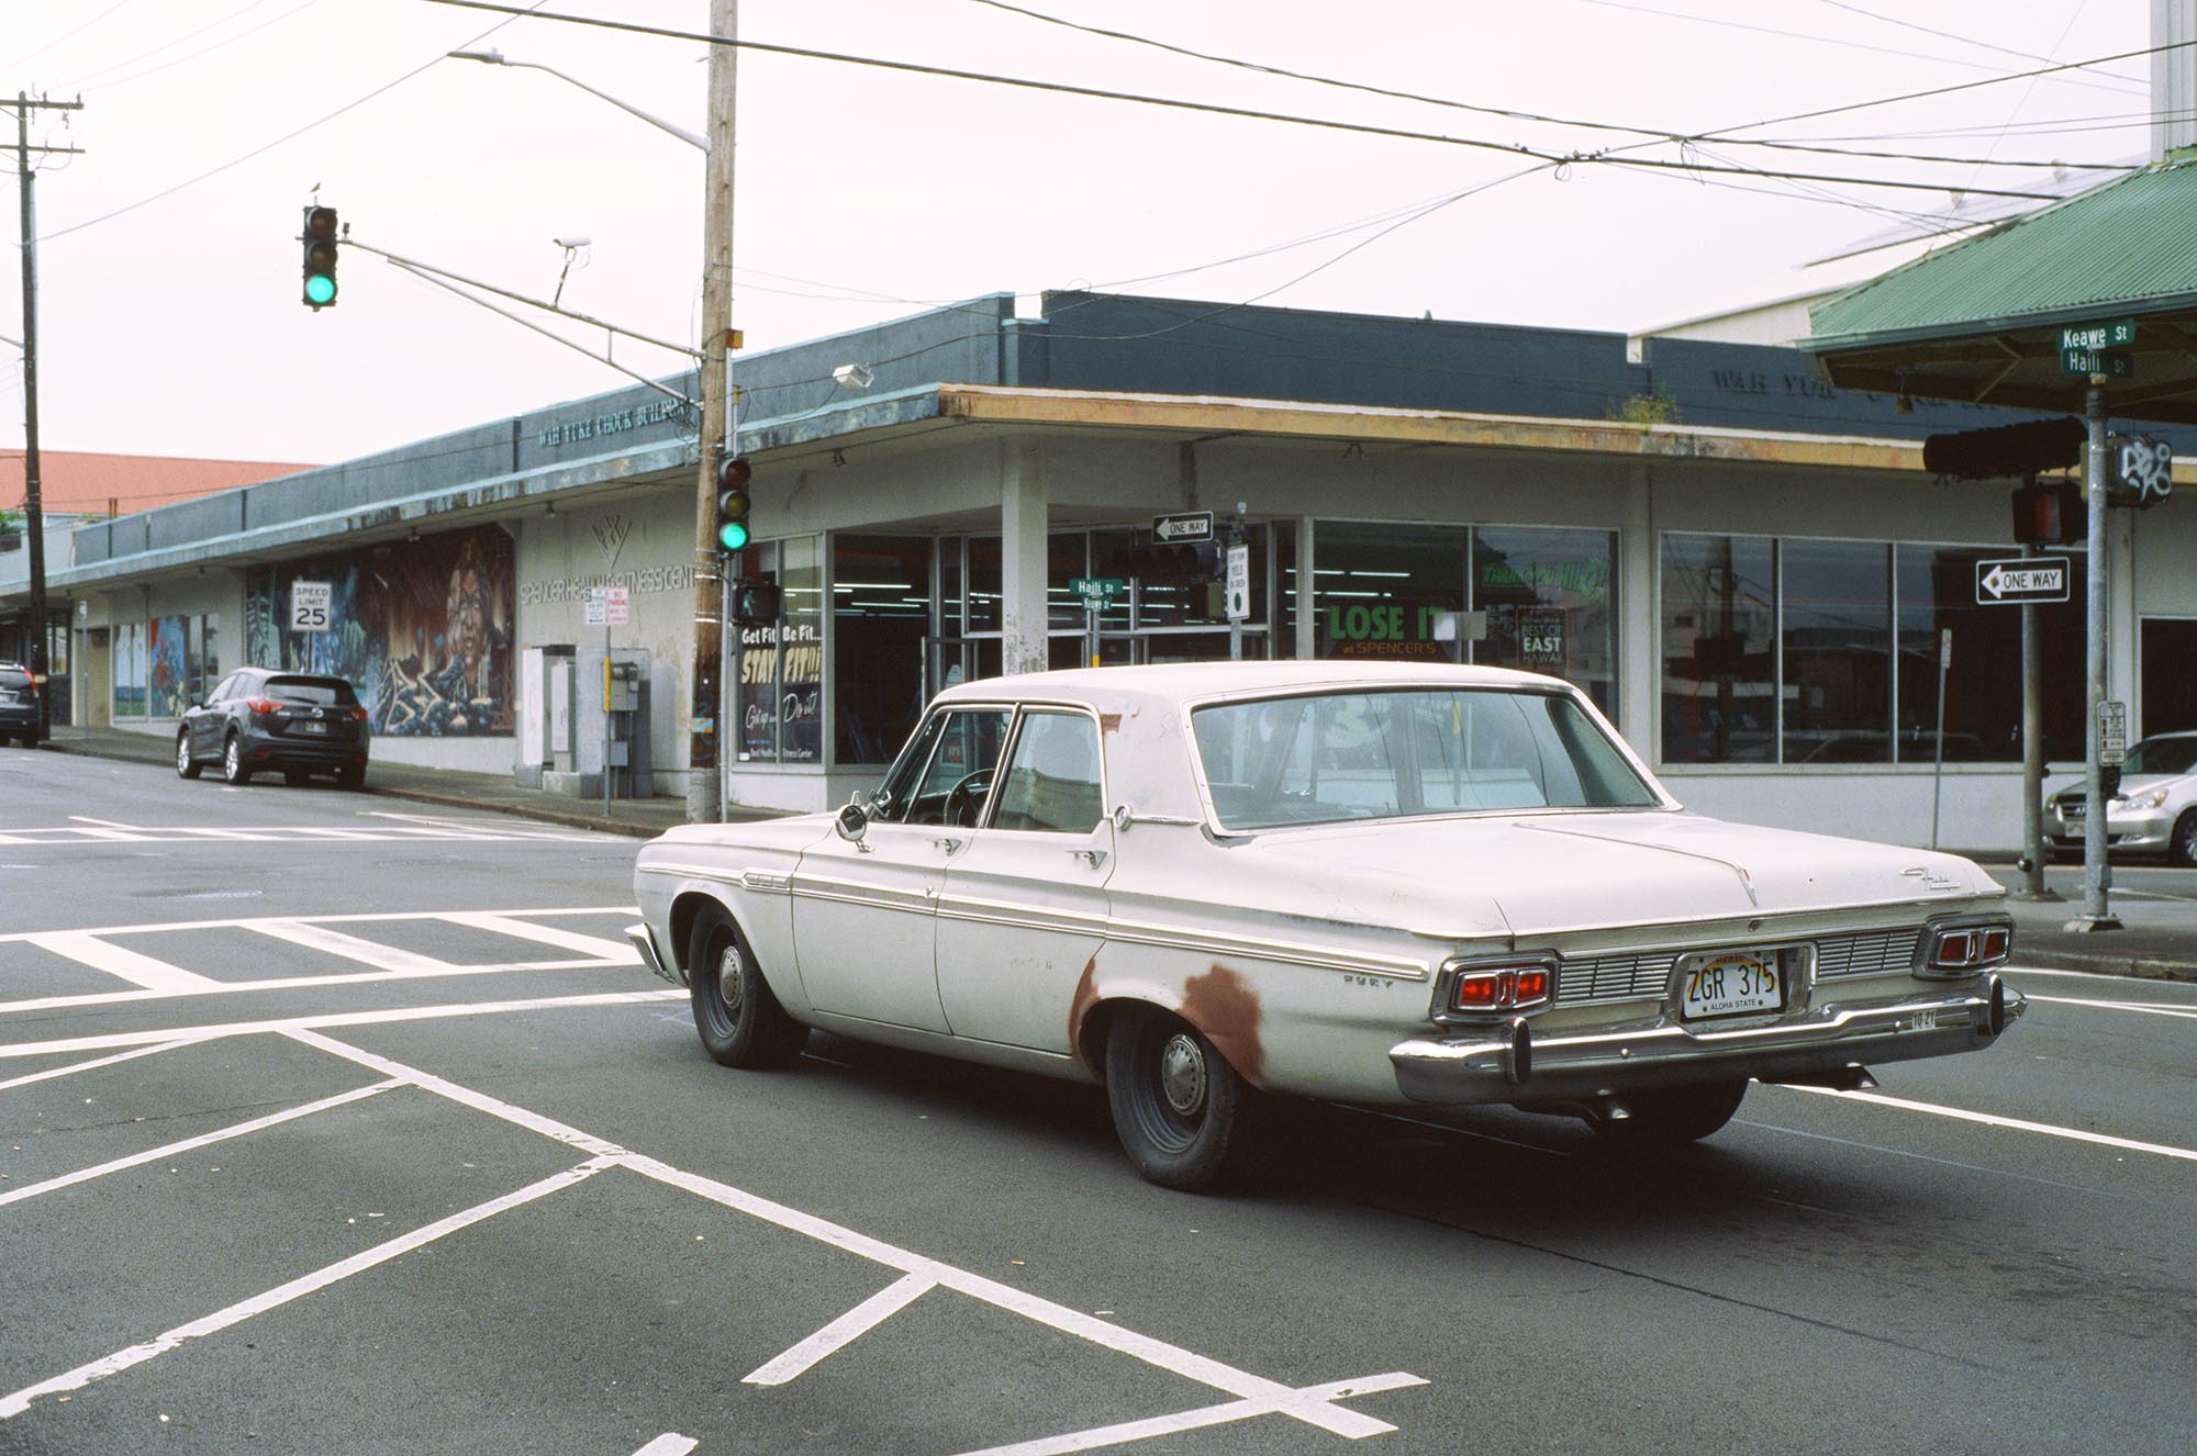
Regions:
[[1953, 854], [1722, 824], [1584, 694], [1492, 668], [964, 683], [837, 815], [642, 848], [628, 936], [727, 1065], [808, 1028], [1103, 1083], [1204, 1188], [1265, 1094], [1705, 1138], [1749, 1078], [1990, 1045], [2004, 894]]

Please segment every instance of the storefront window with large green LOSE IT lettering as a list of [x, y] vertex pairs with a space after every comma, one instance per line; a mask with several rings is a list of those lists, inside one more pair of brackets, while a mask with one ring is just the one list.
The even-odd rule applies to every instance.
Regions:
[[1320, 520], [1314, 531], [1316, 657], [1459, 661], [1439, 619], [1465, 611], [1463, 527]]

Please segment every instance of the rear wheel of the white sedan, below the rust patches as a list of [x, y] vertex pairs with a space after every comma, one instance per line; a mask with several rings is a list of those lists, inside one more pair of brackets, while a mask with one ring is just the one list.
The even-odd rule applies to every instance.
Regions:
[[1250, 1138], [1250, 1083], [1189, 1023], [1125, 1015], [1107, 1028], [1105, 1094], [1129, 1162], [1162, 1188], [1224, 1184]]

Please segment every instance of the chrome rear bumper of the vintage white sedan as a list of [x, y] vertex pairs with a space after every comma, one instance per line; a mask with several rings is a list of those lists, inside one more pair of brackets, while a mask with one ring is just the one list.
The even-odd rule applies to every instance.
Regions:
[[1527, 1021], [1389, 1048], [1397, 1089], [1413, 1102], [1544, 1102], [1725, 1078], [1808, 1083], [1863, 1063], [1975, 1052], [2023, 1008], [1997, 975], [1958, 993], [1865, 1006], [1826, 1004], [1797, 1019], [1731, 1030], [1668, 1019], [1632, 1030], [1534, 1037]]

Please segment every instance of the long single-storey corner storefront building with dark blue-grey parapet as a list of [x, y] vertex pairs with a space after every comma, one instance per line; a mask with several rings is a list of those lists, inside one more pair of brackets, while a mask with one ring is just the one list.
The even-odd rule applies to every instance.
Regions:
[[[844, 365], [874, 382], [848, 391]], [[1239, 652], [1551, 672], [1694, 808], [1909, 843], [1942, 696], [1942, 841], [2019, 841], [2019, 611], [1975, 591], [1979, 560], [2019, 553], [2010, 483], [1920, 461], [1929, 433], [2019, 415], [1900, 413], [1788, 349], [1650, 340], [1630, 362], [1615, 334], [1096, 294], [1041, 318], [982, 299], [736, 378], [745, 571], [784, 615], [727, 632], [732, 802], [844, 802], [947, 683]], [[174, 733], [226, 668], [310, 665], [360, 685], [378, 758], [545, 793], [620, 758], [589, 701], [609, 652], [646, 703], [620, 747], [677, 793], [694, 474], [692, 413], [631, 389], [86, 527], [55, 593], [116, 725]], [[1206, 509], [1250, 545], [1237, 624], [1151, 551], [1153, 516]], [[2190, 509], [2114, 512], [2111, 676], [2142, 731], [2197, 727]], [[1129, 589], [1088, 613], [1077, 578]], [[628, 624], [587, 624], [598, 584], [626, 589]], [[2078, 578], [2041, 613], [2061, 764], [2081, 600]]]

